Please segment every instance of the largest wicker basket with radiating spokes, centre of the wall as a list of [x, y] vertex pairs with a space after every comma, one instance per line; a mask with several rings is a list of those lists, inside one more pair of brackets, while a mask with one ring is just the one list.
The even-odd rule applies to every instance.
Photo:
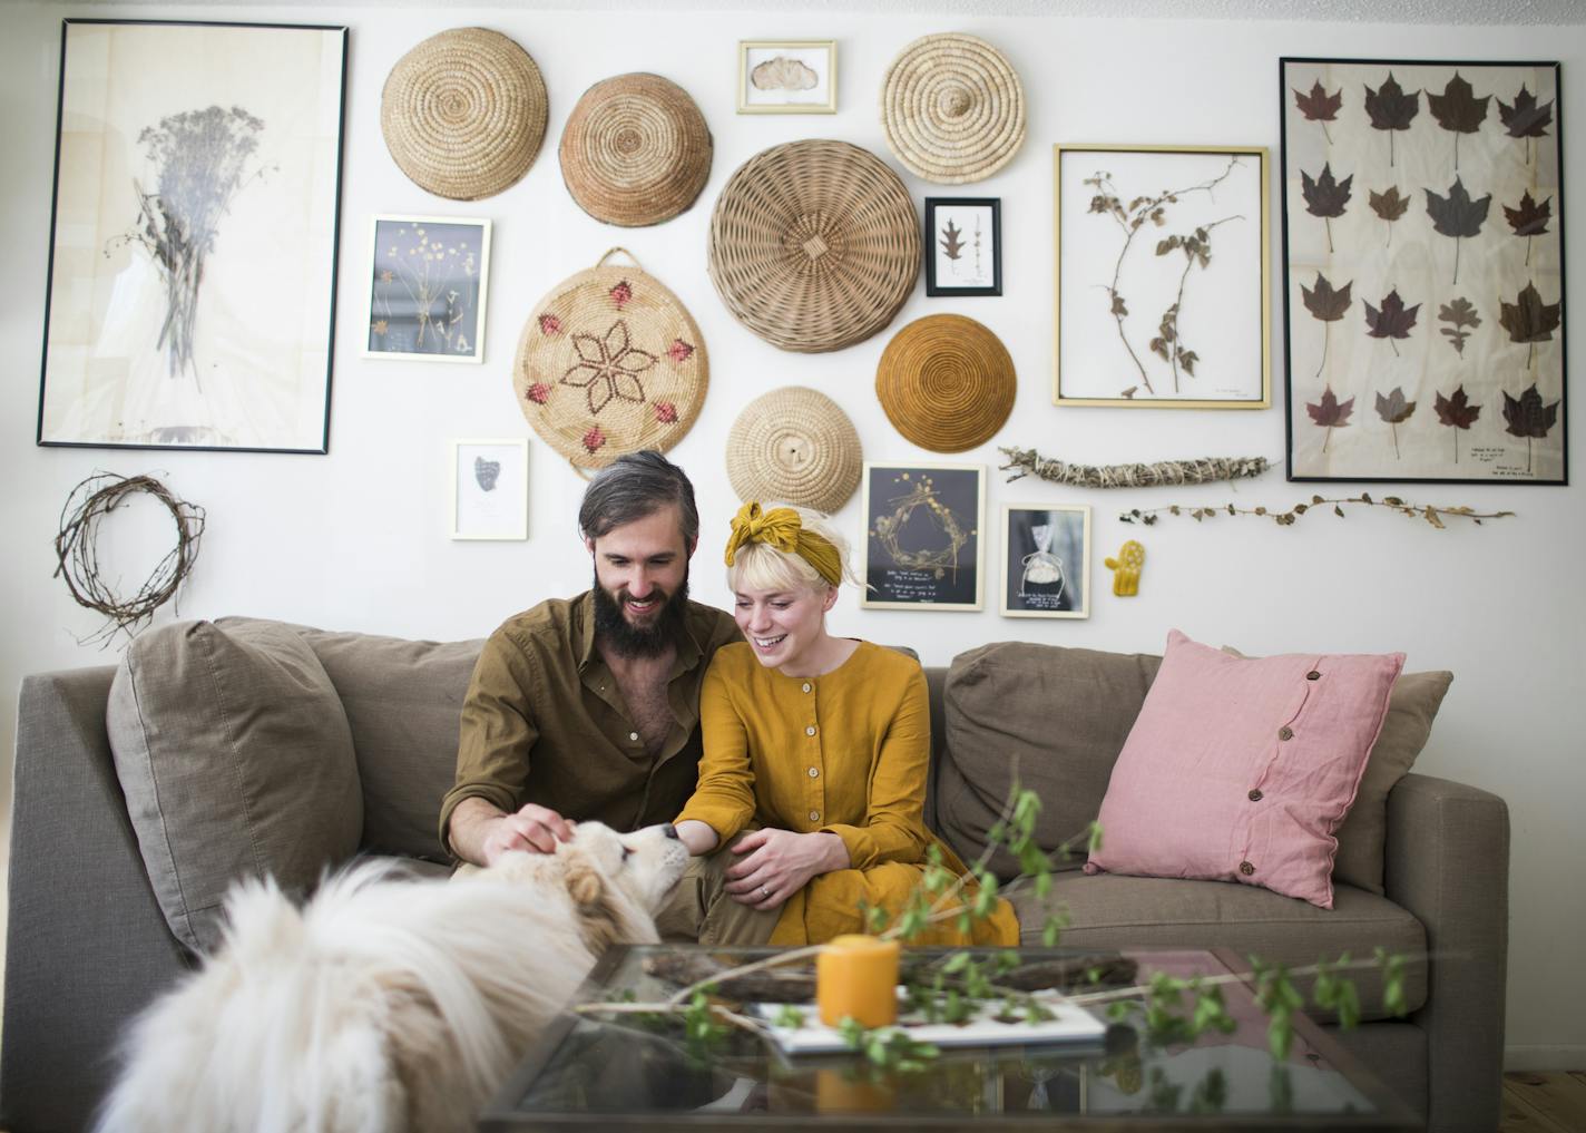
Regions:
[[902, 179], [847, 141], [772, 146], [744, 162], [711, 214], [711, 281], [739, 322], [783, 351], [864, 341], [920, 275]]

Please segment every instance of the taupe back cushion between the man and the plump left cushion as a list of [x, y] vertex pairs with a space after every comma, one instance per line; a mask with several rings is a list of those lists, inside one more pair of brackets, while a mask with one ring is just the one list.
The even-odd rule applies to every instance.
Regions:
[[484, 641], [295, 628], [330, 674], [352, 725], [363, 781], [363, 846], [450, 860], [435, 830], [441, 798], [457, 781], [463, 695]]

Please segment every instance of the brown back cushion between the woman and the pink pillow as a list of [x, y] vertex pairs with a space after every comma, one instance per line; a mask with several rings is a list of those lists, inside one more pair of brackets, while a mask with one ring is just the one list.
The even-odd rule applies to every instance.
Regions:
[[[947, 754], [936, 817], [964, 858], [980, 854], [1013, 779], [1040, 795], [1037, 841], [1074, 851], [1058, 868], [1085, 863], [1112, 765], [1145, 703], [1161, 657], [1004, 641], [960, 654], [947, 671]], [[1018, 873], [1002, 851], [999, 878]]]

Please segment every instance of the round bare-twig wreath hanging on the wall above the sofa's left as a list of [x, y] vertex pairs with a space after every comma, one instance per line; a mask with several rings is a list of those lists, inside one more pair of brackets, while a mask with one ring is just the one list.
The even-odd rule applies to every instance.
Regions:
[[[149, 579], [130, 598], [119, 598], [103, 581], [98, 562], [98, 525], [116, 508], [140, 492], [152, 495], [165, 505], [176, 522], [176, 546], [149, 574]], [[205, 511], [195, 503], [178, 500], [168, 487], [152, 476], [117, 476], [94, 473], [67, 497], [60, 509], [60, 532], [56, 535], [56, 578], [65, 578], [67, 589], [79, 606], [86, 606], [108, 619], [105, 627], [86, 638], [103, 647], [117, 632], [128, 636], [154, 617], [154, 611], [171, 601], [181, 584], [192, 573], [198, 559], [198, 540], [203, 536]]]

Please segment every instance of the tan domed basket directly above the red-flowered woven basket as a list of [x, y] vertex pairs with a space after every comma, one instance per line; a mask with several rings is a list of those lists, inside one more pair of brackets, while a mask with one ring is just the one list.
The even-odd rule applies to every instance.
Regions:
[[617, 75], [573, 108], [561, 130], [561, 179], [596, 221], [634, 229], [693, 205], [711, 154], [711, 130], [687, 90], [660, 75]]

